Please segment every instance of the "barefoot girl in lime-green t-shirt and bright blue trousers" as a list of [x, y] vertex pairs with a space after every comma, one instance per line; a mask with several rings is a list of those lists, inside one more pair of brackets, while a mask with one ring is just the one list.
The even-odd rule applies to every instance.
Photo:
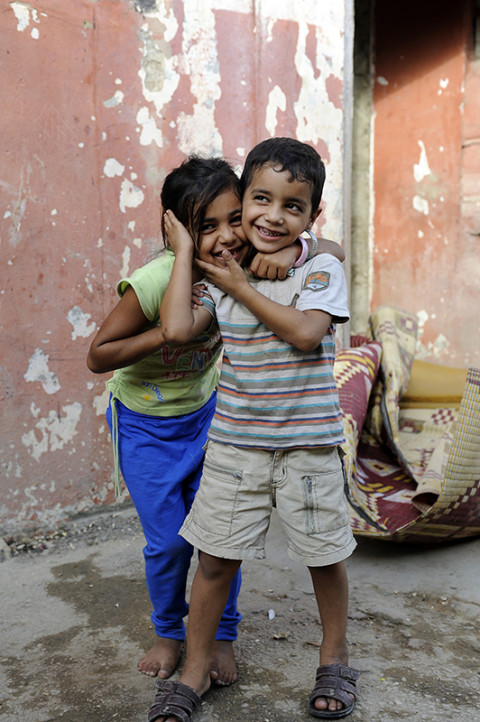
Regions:
[[[238, 183], [223, 159], [191, 156], [166, 177], [163, 210], [171, 210], [197, 241], [200, 235], [222, 233], [233, 245], [244, 238]], [[210, 209], [225, 193], [233, 194], [237, 202], [218, 228]], [[163, 220], [162, 231], [165, 238]], [[340, 246], [321, 243], [343, 260]], [[257, 254], [251, 270], [262, 277], [284, 278], [300, 251], [297, 244], [278, 254]], [[157, 258], [119, 282], [120, 300], [102, 323], [87, 359], [94, 373], [114, 371], [107, 381], [111, 392], [107, 420], [114, 444], [116, 488], [121, 471], [145, 534], [145, 574], [156, 632], [138, 668], [161, 679], [174, 672], [185, 639], [185, 591], [193, 548], [178, 536], [178, 530], [201, 476], [221, 353], [215, 324], [184, 346], [165, 343], [159, 309], [173, 261], [167, 243]], [[194, 283], [202, 277], [194, 265]], [[238, 573], [216, 635], [211, 676], [217, 684], [237, 679], [233, 641], [240, 620], [236, 605], [240, 581]]]

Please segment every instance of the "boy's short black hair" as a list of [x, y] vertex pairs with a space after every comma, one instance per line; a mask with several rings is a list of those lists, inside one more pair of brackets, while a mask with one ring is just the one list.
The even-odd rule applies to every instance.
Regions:
[[288, 171], [292, 181], [308, 183], [312, 189], [312, 211], [317, 210], [322, 200], [325, 165], [315, 148], [295, 138], [268, 138], [258, 143], [245, 161], [240, 178], [242, 197], [255, 171], [264, 165], [273, 166], [279, 172]]

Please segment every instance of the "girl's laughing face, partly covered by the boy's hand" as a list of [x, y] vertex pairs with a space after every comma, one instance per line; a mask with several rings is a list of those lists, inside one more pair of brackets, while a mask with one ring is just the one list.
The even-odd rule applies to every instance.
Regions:
[[242, 264], [249, 250], [242, 229], [242, 204], [233, 190], [224, 191], [208, 206], [199, 230], [198, 257], [206, 263], [224, 266], [222, 252], [230, 251]]

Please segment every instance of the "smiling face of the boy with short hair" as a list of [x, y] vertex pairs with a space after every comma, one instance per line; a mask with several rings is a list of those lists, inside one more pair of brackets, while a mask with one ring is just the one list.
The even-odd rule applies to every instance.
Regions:
[[312, 212], [311, 198], [309, 183], [292, 180], [288, 171], [272, 165], [261, 166], [243, 197], [242, 225], [248, 240], [262, 253], [292, 245], [319, 214]]

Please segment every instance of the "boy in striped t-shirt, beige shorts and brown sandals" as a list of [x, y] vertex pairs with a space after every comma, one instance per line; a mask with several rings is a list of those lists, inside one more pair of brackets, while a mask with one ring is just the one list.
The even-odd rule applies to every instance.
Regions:
[[[256, 146], [241, 178], [248, 241], [263, 253], [292, 245], [320, 212], [324, 180], [311, 146], [289, 138]], [[212, 314], [224, 361], [200, 490], [180, 530], [201, 550], [187, 658], [179, 682], [157, 683], [149, 722], [186, 722], [209, 688], [208, 660], [230, 581], [243, 559], [265, 556], [272, 506], [289, 555], [310, 571], [323, 626], [309, 711], [339, 718], [355, 704], [359, 673], [348, 667], [344, 563], [355, 541], [343, 497], [343, 428], [333, 378], [332, 322], [348, 320], [345, 277], [341, 263], [325, 254], [284, 281], [247, 277], [241, 232], [222, 230], [234, 206], [224, 195], [207, 212], [197, 263], [210, 297], [198, 309], [191, 308], [188, 290], [193, 242], [171, 214], [166, 218], [175, 263], [160, 311], [165, 338], [184, 343], [208, 327]]]

